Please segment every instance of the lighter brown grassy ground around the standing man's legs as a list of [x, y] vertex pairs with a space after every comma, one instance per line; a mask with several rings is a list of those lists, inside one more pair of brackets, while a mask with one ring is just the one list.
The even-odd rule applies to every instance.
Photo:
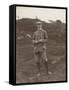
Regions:
[[49, 82], [66, 80], [65, 44], [49, 41], [47, 44], [48, 67], [51, 75], [41, 64], [41, 75], [37, 77], [36, 62], [34, 59], [32, 43], [20, 43], [16, 46], [16, 82]]

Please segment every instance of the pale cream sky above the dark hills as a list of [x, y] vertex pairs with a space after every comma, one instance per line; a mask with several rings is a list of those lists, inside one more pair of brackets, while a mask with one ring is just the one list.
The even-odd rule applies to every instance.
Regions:
[[53, 9], [53, 8], [35, 8], [35, 7], [16, 7], [16, 19], [21, 18], [33, 18], [50, 22], [49, 20], [61, 20], [66, 22], [66, 10], [65, 9]]

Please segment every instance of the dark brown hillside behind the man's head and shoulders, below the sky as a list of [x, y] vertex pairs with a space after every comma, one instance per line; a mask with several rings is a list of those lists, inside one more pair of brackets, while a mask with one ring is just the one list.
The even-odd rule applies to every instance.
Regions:
[[[32, 34], [36, 31], [36, 19], [24, 18], [16, 21], [16, 35], [24, 36], [24, 33]], [[41, 20], [40, 20], [41, 21]], [[49, 40], [63, 43], [65, 40], [65, 24], [60, 20], [47, 23], [42, 21], [43, 29], [47, 31]], [[20, 41], [20, 40], [19, 40]]]

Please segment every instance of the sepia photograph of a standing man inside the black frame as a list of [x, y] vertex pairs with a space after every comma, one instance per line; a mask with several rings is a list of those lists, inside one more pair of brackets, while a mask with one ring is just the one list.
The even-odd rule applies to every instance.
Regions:
[[16, 83], [65, 82], [66, 9], [16, 6]]

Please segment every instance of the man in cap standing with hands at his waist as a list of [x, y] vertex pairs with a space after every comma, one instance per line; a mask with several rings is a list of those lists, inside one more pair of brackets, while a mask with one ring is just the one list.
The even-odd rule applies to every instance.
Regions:
[[48, 35], [45, 30], [42, 28], [42, 23], [40, 21], [36, 22], [37, 26], [37, 31], [34, 32], [33, 35], [33, 44], [34, 44], [34, 55], [35, 55], [35, 60], [38, 68], [38, 76], [40, 76], [40, 63], [43, 62], [47, 74], [48, 72], [48, 63], [47, 63], [47, 55], [46, 55], [46, 43], [48, 40]]

